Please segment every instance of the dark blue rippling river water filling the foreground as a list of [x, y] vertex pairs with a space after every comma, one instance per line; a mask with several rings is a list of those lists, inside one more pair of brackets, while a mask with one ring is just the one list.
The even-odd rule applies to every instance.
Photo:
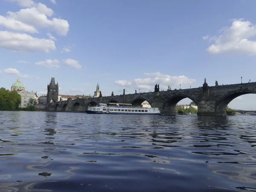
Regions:
[[256, 116], [0, 111], [0, 192], [256, 191]]

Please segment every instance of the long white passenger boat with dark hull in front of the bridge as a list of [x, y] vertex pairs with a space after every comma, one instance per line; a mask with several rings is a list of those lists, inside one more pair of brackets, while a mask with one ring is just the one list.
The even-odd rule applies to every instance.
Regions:
[[160, 115], [158, 108], [132, 107], [127, 103], [99, 103], [96, 107], [89, 106], [86, 113], [104, 114], [138, 114], [138, 115]]

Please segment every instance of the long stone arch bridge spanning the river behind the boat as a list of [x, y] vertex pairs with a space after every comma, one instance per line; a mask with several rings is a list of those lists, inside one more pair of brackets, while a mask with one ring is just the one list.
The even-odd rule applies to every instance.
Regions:
[[130, 103], [139, 106], [147, 101], [152, 108], [159, 108], [163, 115], [176, 115], [176, 104], [189, 98], [198, 106], [198, 115], [223, 116], [226, 115], [227, 105], [233, 99], [248, 93], [256, 93], [256, 82], [209, 87], [205, 81], [203, 86], [198, 88], [54, 102], [47, 106], [47, 111], [85, 112], [89, 105], [96, 106], [99, 103]]

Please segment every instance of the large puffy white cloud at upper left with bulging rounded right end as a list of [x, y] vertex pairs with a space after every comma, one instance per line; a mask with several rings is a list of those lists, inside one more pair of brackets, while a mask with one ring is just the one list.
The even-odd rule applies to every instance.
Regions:
[[26, 25], [33, 26], [34, 28], [47, 28], [56, 31], [58, 35], [67, 35], [69, 31], [69, 23], [67, 20], [60, 18], [47, 18], [51, 17], [54, 12], [42, 3], [38, 3], [37, 6], [20, 9], [19, 12], [7, 12], [8, 17], [12, 17], [14, 20], [25, 23]]

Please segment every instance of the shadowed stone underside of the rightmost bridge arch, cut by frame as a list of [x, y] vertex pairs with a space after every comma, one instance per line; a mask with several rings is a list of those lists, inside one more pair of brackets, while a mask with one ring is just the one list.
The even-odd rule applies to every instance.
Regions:
[[217, 113], [223, 113], [224, 115], [226, 115], [226, 108], [227, 105], [236, 97], [245, 95], [245, 94], [256, 94], [256, 90], [250, 90], [248, 88], [244, 89], [244, 88], [240, 88], [239, 90], [233, 90], [230, 91], [229, 93], [227, 93], [225, 96], [223, 96], [221, 99], [218, 100], [218, 102], [216, 102], [215, 105], [215, 111]]

